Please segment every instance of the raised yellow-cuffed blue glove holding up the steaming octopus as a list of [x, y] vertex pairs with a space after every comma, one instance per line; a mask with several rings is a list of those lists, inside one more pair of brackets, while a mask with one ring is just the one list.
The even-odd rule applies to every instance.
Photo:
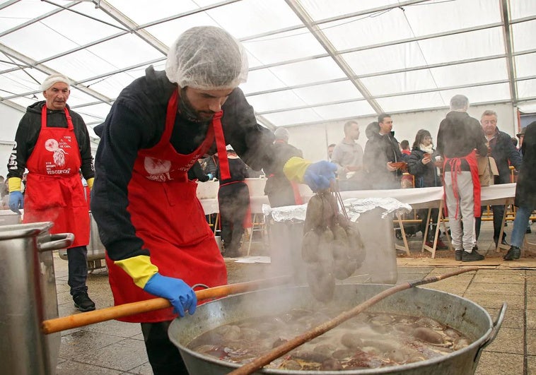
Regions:
[[301, 157], [291, 157], [285, 163], [283, 172], [289, 180], [308, 184], [311, 190], [318, 191], [330, 187], [337, 165], [326, 160], [310, 162]]

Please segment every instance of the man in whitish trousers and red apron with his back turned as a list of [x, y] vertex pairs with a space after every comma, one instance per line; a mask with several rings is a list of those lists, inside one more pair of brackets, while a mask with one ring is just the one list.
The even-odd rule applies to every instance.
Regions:
[[467, 114], [468, 107], [465, 95], [454, 95], [437, 136], [437, 151], [444, 160], [443, 189], [455, 258], [464, 262], [484, 259], [473, 251], [473, 237], [474, 218], [480, 216], [477, 155], [488, 153], [482, 126]]

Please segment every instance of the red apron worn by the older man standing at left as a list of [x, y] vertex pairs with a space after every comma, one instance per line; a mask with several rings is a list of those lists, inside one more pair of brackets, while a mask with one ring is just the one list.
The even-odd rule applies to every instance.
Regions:
[[67, 108], [67, 128], [47, 127], [47, 106], [41, 131], [26, 167], [23, 222], [52, 221], [50, 233], [72, 233], [71, 247], [89, 244], [89, 211], [80, 178], [82, 164], [73, 121]]

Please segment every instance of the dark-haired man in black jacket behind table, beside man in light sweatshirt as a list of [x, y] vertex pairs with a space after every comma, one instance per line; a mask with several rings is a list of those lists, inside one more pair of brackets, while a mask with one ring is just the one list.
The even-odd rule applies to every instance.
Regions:
[[369, 130], [370, 137], [367, 134], [368, 141], [365, 145], [363, 166], [368, 173], [372, 189], [400, 189], [402, 171], [393, 167], [391, 163], [404, 160], [397, 138], [392, 133], [390, 115], [380, 114], [378, 126], [378, 132], [372, 132], [371, 128]]

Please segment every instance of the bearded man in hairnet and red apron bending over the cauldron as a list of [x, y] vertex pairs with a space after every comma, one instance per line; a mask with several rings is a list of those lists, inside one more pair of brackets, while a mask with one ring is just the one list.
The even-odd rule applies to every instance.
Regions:
[[192, 287], [227, 282], [226, 266], [186, 172], [218, 153], [221, 178], [231, 176], [230, 144], [253, 169], [279, 167], [315, 191], [336, 167], [276, 155], [273, 134], [258, 125], [238, 88], [247, 76], [243, 47], [214, 27], [185, 31], [168, 52], [165, 71], [146, 70], [115, 100], [100, 135], [91, 208], [107, 249], [116, 304], [155, 296], [173, 307], [122, 320], [141, 322], [155, 374], [186, 372], [167, 335], [177, 314], [194, 314]]

